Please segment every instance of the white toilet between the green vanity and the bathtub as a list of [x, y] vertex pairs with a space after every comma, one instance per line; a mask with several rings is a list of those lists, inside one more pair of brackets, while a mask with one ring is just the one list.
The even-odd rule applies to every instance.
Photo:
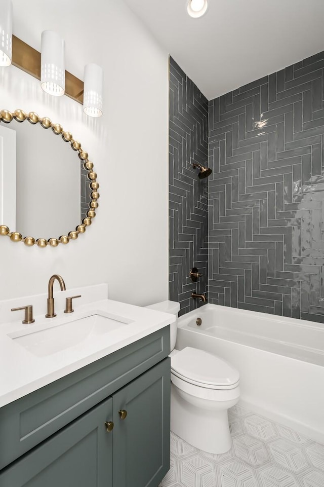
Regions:
[[[180, 304], [147, 306], [178, 317]], [[171, 328], [171, 431], [208, 453], [228, 452], [232, 445], [227, 410], [239, 399], [239, 374], [216, 355], [186, 347], [175, 350], [177, 320]]]

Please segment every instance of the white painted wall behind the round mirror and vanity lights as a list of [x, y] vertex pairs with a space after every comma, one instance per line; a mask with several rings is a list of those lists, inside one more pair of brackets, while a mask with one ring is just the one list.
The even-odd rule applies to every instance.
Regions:
[[83, 79], [88, 62], [103, 66], [98, 120], [66, 96], [43, 93], [19, 69], [0, 68], [0, 107], [36, 111], [72, 132], [95, 164], [101, 197], [92, 226], [66, 246], [28, 248], [0, 237], [0, 299], [44, 292], [53, 273], [67, 288], [107, 282], [110, 298], [132, 304], [167, 299], [167, 52], [121, 0], [13, 0], [13, 8], [14, 34], [38, 51], [42, 30], [63, 35], [75, 76]]

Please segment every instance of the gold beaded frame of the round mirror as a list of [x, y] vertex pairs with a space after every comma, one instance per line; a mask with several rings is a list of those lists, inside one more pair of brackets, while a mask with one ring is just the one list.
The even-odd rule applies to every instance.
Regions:
[[89, 186], [92, 190], [90, 194], [89, 210], [87, 211], [87, 217], [78, 224], [75, 230], [72, 230], [67, 235], [61, 235], [60, 237], [52, 237], [49, 239], [34, 237], [23, 237], [19, 232], [11, 232], [10, 229], [5, 225], [0, 225], [0, 235], [8, 236], [12, 242], [24, 242], [25, 245], [31, 247], [33, 245], [38, 245], [38, 247], [57, 247], [60, 243], [67, 244], [70, 240], [75, 240], [78, 238], [79, 234], [83, 234], [86, 228], [91, 225], [92, 218], [96, 216], [96, 208], [98, 208], [98, 198], [99, 198], [99, 183], [97, 182], [97, 174], [94, 172], [93, 163], [89, 160], [88, 153], [84, 151], [80, 142], [73, 139], [70, 132], [65, 132], [61, 125], [54, 124], [48, 117], [40, 118], [34, 111], [26, 114], [23, 110], [15, 110], [14, 112], [9, 110], [0, 111], [0, 123], [10, 124], [13, 120], [17, 122], [25, 122], [26, 120], [32, 124], [40, 124], [44, 129], [51, 128], [55, 135], [61, 135], [64, 142], [68, 142], [71, 149], [75, 151], [80, 160], [83, 161], [85, 169], [88, 171], [88, 179], [90, 181]]

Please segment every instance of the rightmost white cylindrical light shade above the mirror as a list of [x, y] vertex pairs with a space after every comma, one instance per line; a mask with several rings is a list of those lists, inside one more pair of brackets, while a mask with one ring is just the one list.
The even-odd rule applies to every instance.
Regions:
[[83, 111], [90, 117], [101, 117], [103, 105], [102, 67], [94, 63], [86, 64], [84, 83]]

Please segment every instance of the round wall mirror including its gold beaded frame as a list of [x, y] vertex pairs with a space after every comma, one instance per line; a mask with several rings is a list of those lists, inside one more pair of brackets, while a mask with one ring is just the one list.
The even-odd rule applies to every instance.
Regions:
[[48, 117], [2, 110], [0, 122], [0, 235], [39, 247], [76, 239], [98, 208], [88, 154]]

